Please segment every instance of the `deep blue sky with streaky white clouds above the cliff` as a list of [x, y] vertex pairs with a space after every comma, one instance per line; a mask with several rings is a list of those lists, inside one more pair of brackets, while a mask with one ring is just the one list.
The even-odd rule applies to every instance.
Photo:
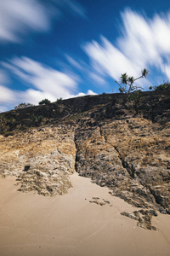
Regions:
[[167, 0], [0, 0], [0, 112], [170, 80]]

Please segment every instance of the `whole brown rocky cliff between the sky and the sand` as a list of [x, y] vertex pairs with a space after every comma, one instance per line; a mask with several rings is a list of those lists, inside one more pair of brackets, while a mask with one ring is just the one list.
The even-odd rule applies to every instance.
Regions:
[[122, 214], [143, 227], [156, 211], [170, 214], [170, 92], [13, 110], [1, 113], [0, 132], [0, 173], [16, 176], [20, 191], [63, 195], [76, 171], [140, 207]]

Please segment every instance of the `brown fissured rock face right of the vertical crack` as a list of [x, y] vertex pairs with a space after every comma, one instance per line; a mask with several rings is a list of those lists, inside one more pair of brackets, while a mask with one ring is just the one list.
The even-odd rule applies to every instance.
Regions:
[[77, 172], [107, 186], [135, 207], [169, 213], [170, 152], [167, 125], [116, 120], [77, 132]]

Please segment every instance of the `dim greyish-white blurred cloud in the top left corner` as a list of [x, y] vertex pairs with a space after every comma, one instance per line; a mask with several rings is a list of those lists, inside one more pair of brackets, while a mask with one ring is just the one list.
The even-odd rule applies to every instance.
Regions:
[[65, 12], [85, 16], [80, 4], [71, 0], [1, 0], [0, 42], [17, 42], [28, 31], [47, 32], [52, 20]]

